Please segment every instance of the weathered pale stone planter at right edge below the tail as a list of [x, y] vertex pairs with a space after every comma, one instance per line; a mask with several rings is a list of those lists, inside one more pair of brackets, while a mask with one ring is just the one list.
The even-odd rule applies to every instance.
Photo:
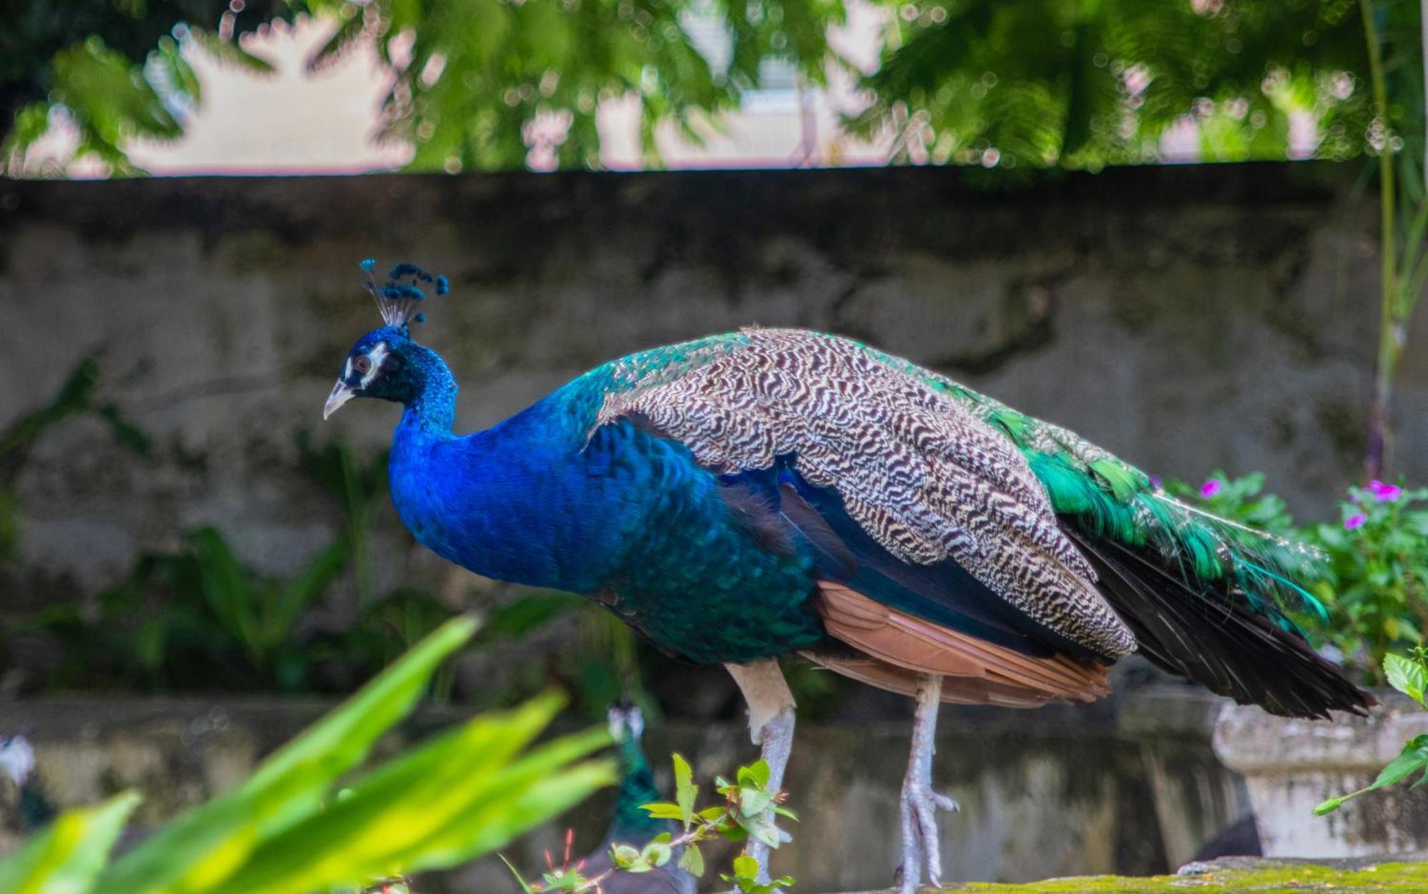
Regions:
[[1265, 857], [1367, 857], [1428, 851], [1428, 790], [1395, 785], [1325, 817], [1322, 800], [1362, 788], [1404, 743], [1428, 733], [1428, 713], [1379, 693], [1368, 717], [1274, 717], [1230, 705], [1215, 724], [1215, 754], [1245, 777]]

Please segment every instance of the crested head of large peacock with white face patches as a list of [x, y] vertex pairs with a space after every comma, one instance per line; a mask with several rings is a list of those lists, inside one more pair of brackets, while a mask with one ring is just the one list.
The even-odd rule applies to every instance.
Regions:
[[447, 278], [403, 263], [391, 268], [386, 286], [378, 286], [376, 267], [377, 261], [370, 258], [361, 263], [361, 268], [367, 271], [363, 288], [376, 298], [386, 326], [358, 338], [347, 353], [337, 384], [323, 407], [323, 418], [354, 397], [376, 397], [410, 406], [421, 394], [427, 377], [437, 367], [444, 368], [430, 348], [411, 338], [411, 324], [423, 321], [417, 308], [427, 297], [418, 283], [434, 287], [437, 294], [447, 294]]

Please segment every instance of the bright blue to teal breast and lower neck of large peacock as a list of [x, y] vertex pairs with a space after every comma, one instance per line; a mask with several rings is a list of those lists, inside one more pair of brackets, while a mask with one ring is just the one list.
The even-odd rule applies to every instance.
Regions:
[[718, 476], [628, 421], [588, 436], [588, 401], [557, 391], [466, 437], [408, 413], [391, 493], [411, 533], [477, 574], [594, 596], [661, 648], [751, 661], [824, 638], [814, 558], [770, 548]]

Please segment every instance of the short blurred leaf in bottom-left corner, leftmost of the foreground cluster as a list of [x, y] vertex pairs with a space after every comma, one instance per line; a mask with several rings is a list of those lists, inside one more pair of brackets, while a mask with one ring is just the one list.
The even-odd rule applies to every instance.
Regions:
[[83, 894], [114, 847], [139, 794], [114, 795], [97, 807], [69, 810], [24, 848], [0, 863], [7, 894]]

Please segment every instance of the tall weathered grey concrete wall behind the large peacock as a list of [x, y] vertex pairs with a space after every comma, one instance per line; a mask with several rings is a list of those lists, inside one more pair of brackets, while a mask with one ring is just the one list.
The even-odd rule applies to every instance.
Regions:
[[[977, 171], [980, 173], [980, 171]], [[338, 518], [294, 434], [377, 450], [396, 408], [320, 407], [377, 317], [356, 261], [453, 277], [423, 337], [460, 424], [613, 356], [745, 323], [825, 328], [945, 370], [1162, 474], [1265, 470], [1305, 516], [1358, 463], [1374, 209], [1354, 171], [1208, 166], [0, 183], [0, 424], [99, 351], [156, 438], [47, 434], [20, 477], [27, 567], [81, 591], [211, 523], [283, 571]], [[1419, 314], [1428, 317], [1428, 314]], [[1428, 477], [1428, 321], [1397, 468]], [[443, 574], [393, 537], [390, 581]], [[406, 561], [403, 561], [406, 558]]]

